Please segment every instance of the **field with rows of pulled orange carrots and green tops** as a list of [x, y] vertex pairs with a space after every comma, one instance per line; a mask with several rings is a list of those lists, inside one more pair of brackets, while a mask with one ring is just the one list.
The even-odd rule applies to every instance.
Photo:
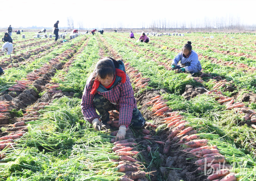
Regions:
[[[13, 66], [0, 55], [1, 181], [256, 180], [255, 35], [32, 36], [12, 36]], [[171, 70], [187, 41], [202, 65], [195, 77]], [[118, 113], [96, 132], [81, 112], [103, 57], [124, 62], [147, 121], [125, 141], [113, 141]]]

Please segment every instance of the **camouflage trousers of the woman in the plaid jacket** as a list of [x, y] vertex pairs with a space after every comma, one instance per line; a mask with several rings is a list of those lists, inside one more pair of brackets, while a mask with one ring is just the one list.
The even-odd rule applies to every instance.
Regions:
[[[100, 114], [100, 119], [102, 122], [109, 121], [109, 111], [117, 110], [119, 111], [114, 104], [112, 104], [109, 100], [107, 100], [103, 95], [98, 93], [95, 94], [93, 98], [93, 104]], [[142, 117], [141, 112], [138, 108], [133, 108], [132, 110], [132, 118], [131, 125], [134, 129], [142, 129], [144, 127], [146, 120]]]

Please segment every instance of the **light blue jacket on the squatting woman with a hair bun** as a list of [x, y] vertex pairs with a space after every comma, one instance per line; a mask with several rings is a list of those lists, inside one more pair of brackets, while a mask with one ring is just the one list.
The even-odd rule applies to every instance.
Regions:
[[177, 65], [181, 61], [181, 64], [190, 63], [190, 66], [185, 66], [186, 72], [188, 71], [194, 71], [195, 73], [198, 73], [202, 70], [201, 63], [198, 60], [197, 53], [192, 50], [189, 57], [185, 58], [183, 57], [183, 52], [180, 52], [173, 60], [172, 65]]

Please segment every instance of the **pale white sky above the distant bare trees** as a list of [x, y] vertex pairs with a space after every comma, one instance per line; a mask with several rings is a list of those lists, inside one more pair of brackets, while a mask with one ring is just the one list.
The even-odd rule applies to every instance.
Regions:
[[[8, 2], [8, 4], [5, 4]], [[67, 27], [67, 17], [74, 26], [82, 21], [84, 27], [101, 27], [102, 24], [140, 26], [152, 20], [176, 21], [203, 20], [204, 17], [239, 17], [246, 25], [256, 24], [256, 0], [0, 0], [0, 27]]]

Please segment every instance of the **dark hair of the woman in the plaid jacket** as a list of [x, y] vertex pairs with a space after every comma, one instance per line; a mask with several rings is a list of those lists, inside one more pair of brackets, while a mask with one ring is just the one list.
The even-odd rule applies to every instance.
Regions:
[[116, 69], [118, 67], [119, 63], [111, 57], [100, 59], [96, 64], [93, 73], [87, 79], [86, 83], [88, 83], [88, 81], [91, 81], [91, 86], [93, 86], [93, 81], [97, 77], [100, 77], [102, 79], [106, 78], [106, 76], [112, 77], [115, 75]]

